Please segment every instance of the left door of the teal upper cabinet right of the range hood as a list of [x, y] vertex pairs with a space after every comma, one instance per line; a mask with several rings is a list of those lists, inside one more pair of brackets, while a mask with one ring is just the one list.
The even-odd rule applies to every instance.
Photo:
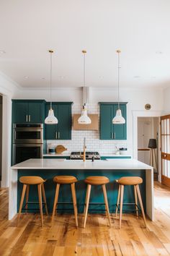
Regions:
[[100, 140], [113, 139], [112, 116], [112, 104], [103, 104], [100, 106]]

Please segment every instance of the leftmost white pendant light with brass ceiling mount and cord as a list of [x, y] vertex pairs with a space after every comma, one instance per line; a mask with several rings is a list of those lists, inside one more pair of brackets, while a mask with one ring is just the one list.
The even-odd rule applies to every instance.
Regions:
[[50, 109], [48, 111], [48, 116], [45, 118], [45, 124], [58, 124], [58, 119], [54, 115], [51, 101], [51, 83], [52, 83], [52, 54], [53, 50], [49, 50], [50, 53]]

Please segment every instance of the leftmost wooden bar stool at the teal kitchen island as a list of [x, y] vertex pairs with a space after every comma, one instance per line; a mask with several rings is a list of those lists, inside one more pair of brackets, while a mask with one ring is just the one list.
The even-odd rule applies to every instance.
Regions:
[[[37, 185], [39, 202], [33, 202], [33, 203], [39, 203], [39, 205], [40, 205], [41, 224], [43, 227], [42, 204], [45, 205], [45, 211], [46, 211], [46, 214], [48, 215], [48, 207], [47, 207], [47, 201], [46, 201], [45, 189], [44, 189], [45, 179], [42, 179], [40, 176], [22, 176], [19, 178], [19, 182], [21, 182], [23, 184], [23, 188], [22, 188], [22, 197], [21, 197], [20, 205], [19, 205], [18, 223], [19, 223], [19, 219], [21, 216], [21, 212], [22, 212], [22, 205], [24, 202], [25, 192], [26, 192], [25, 212], [27, 213], [27, 206], [29, 203], [32, 203], [32, 202], [28, 201], [30, 185]], [[42, 202], [42, 197], [43, 197], [44, 202]]]

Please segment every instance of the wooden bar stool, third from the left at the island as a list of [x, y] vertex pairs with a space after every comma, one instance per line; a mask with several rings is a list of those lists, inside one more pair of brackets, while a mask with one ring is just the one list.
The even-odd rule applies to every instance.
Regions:
[[109, 226], [111, 226], [111, 220], [110, 220], [110, 216], [109, 216], [109, 205], [108, 205], [108, 201], [107, 201], [107, 192], [106, 192], [106, 186], [105, 186], [107, 183], [109, 183], [109, 179], [105, 176], [89, 176], [84, 180], [84, 182], [87, 184], [86, 201], [85, 201], [85, 205], [84, 205], [84, 215], [85, 215], [84, 216], [84, 229], [86, 227], [86, 218], [87, 218], [87, 213], [88, 213], [88, 209], [89, 209], [89, 204], [92, 204], [92, 202], [89, 202], [91, 185], [102, 185], [105, 209], [107, 212]]

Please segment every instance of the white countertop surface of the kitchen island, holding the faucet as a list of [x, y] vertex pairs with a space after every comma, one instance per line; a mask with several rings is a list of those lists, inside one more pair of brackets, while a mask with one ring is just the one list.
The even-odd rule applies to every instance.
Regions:
[[43, 159], [32, 158], [22, 163], [12, 166], [12, 169], [97, 169], [97, 170], [137, 170], [153, 169], [146, 163], [135, 159], [107, 159], [96, 160], [94, 162], [87, 160], [66, 160], [66, 159]]

